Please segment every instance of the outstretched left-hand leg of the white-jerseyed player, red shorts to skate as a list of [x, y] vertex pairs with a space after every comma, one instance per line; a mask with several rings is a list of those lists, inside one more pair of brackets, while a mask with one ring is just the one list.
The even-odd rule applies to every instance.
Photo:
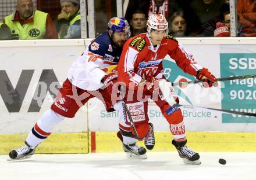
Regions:
[[[76, 112], [79, 110], [80, 105], [85, 104], [94, 95], [85, 95], [83, 100], [77, 100], [70, 96], [74, 95], [73, 90], [77, 90], [76, 95], [81, 95], [87, 91], [78, 89], [73, 86], [72, 83], [67, 79], [62, 88], [59, 90], [59, 94], [56, 97], [55, 102], [52, 104], [51, 109], [46, 111], [44, 115], [35, 123], [31, 129], [25, 144], [20, 148], [13, 149], [9, 153], [9, 160], [20, 160], [31, 157], [35, 153], [35, 148], [44, 139], [46, 139], [51, 133], [54, 127], [59, 124], [65, 117], [74, 117]], [[80, 105], [77, 104], [80, 101]]]

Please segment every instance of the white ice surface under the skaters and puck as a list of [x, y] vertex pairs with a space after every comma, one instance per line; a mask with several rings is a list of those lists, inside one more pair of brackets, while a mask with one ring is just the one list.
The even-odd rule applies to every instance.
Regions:
[[[177, 152], [148, 153], [146, 160], [127, 159], [125, 153], [33, 155], [7, 161], [0, 155], [1, 180], [51, 179], [256, 179], [256, 153], [200, 153], [201, 165], [187, 165]], [[226, 165], [218, 160], [226, 159]]]

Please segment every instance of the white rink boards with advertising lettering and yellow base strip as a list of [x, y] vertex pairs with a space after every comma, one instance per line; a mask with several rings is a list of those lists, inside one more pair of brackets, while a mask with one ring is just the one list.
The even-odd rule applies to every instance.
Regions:
[[[7, 153], [8, 149], [24, 141], [34, 123], [52, 104], [70, 65], [89, 42], [90, 39], [0, 42], [0, 140], [5, 142], [0, 153]], [[202, 67], [208, 67], [217, 77], [255, 74], [254, 38], [185, 38], [180, 42]], [[169, 57], [166, 57], [164, 67], [165, 75], [172, 82], [182, 78], [193, 80], [177, 69]], [[254, 80], [229, 81], [212, 89], [192, 85], [187, 89], [176, 87], [176, 91], [182, 104], [256, 113], [255, 83]], [[205, 108], [186, 107], [182, 111], [189, 131], [189, 144], [194, 148], [201, 151], [255, 151], [255, 117], [228, 115]], [[168, 123], [153, 102], [150, 102], [148, 116], [159, 138], [155, 150], [174, 150], [170, 146]], [[117, 130], [117, 113], [105, 112], [101, 102], [94, 99], [80, 109], [74, 119], [63, 120], [37, 152], [52, 153], [60, 144], [65, 148], [56, 153], [119, 152], [122, 147], [115, 137]], [[73, 145], [69, 145], [70, 142]], [[107, 142], [115, 148], [108, 148]], [[224, 142], [230, 145], [229, 148]]]

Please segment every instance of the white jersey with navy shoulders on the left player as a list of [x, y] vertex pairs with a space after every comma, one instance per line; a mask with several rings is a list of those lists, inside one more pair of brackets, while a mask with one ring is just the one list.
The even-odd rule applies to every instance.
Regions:
[[72, 85], [84, 90], [97, 90], [104, 86], [101, 79], [105, 72], [102, 69], [117, 65], [122, 48], [113, 48], [111, 38], [105, 32], [99, 35], [86, 47], [83, 55], [78, 57], [69, 69], [67, 78]]

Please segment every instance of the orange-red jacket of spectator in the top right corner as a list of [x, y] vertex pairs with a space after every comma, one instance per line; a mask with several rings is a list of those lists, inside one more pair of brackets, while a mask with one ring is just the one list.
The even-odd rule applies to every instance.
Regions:
[[238, 0], [237, 14], [243, 36], [256, 36], [256, 1]]

